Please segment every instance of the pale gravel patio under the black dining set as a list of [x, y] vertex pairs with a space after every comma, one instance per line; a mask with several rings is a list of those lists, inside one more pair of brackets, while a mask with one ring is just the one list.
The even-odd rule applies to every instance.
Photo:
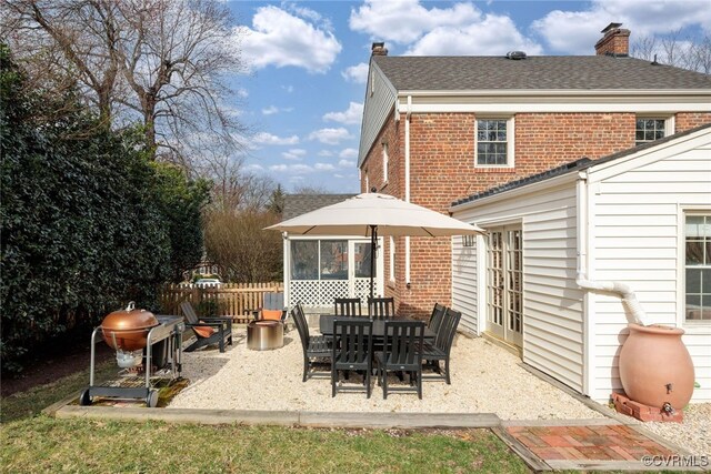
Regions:
[[[343, 392], [331, 397], [328, 371], [323, 377], [301, 381], [303, 356], [296, 330], [284, 335], [283, 347], [258, 352], [247, 349], [246, 330], [238, 329], [234, 345], [224, 353], [208, 349], [183, 354], [182, 374], [190, 385], [169, 409], [495, 413], [502, 420], [604, 417], [481, 337], [459, 334], [451, 357], [452, 384], [423, 381], [422, 400], [413, 393], [392, 393], [383, 400], [374, 379], [370, 399]], [[358, 380], [351, 375], [350, 383]]]

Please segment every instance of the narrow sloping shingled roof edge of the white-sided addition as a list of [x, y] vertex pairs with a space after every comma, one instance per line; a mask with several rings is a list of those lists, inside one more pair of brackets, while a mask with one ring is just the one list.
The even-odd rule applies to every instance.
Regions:
[[460, 199], [458, 201], [453, 201], [451, 206], [465, 204], [468, 202], [478, 201], [480, 199], [489, 198], [490, 195], [501, 194], [507, 191], [511, 191], [517, 188], [522, 188], [528, 184], [538, 183], [541, 181], [550, 180], [551, 178], [560, 177], [568, 173], [577, 173], [582, 170], [587, 170], [588, 168], [595, 167], [601, 163], [607, 163], [608, 161], [619, 160], [620, 158], [628, 157], [632, 153], [637, 153], [642, 150], [647, 150], [648, 148], [659, 147], [662, 143], [667, 143], [672, 140], [677, 140], [681, 137], [689, 135], [691, 133], [695, 133], [699, 130], [711, 129], [711, 123], [707, 123], [704, 125], [695, 127], [690, 130], [685, 130], [683, 132], [674, 133], [673, 135], [664, 137], [663, 139], [654, 140], [653, 142], [644, 143], [638, 147], [629, 148], [627, 150], [618, 151], [612, 154], [608, 154], [607, 157], [602, 157], [598, 160], [590, 160], [589, 158], [581, 158], [580, 160], [572, 161], [570, 163], [562, 164], [560, 167], [550, 169], [548, 171], [543, 171], [542, 173], [532, 174], [530, 177], [522, 178], [520, 180], [510, 181], [500, 186], [491, 188], [487, 191], [478, 192], [468, 198]]

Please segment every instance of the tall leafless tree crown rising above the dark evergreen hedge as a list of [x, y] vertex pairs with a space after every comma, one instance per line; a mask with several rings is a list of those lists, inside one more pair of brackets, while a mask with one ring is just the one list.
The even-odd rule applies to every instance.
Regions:
[[[113, 127], [139, 119], [156, 154], [239, 149], [224, 101], [240, 72], [229, 9], [218, 0], [3, 0], [2, 33], [30, 71], [71, 74]], [[50, 60], [50, 62], [42, 62]]]

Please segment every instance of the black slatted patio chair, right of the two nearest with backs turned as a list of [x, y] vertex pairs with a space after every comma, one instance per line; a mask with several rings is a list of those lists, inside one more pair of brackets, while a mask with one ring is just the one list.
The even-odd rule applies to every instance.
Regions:
[[[375, 353], [378, 385], [382, 385], [382, 397], [388, 392], [417, 392], [422, 400], [422, 344], [423, 321], [385, 321], [385, 346]], [[410, 386], [388, 386], [388, 372], [409, 373]]]

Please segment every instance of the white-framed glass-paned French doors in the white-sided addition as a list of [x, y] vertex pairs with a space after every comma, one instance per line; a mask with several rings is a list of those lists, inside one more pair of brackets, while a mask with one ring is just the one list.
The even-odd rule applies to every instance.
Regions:
[[518, 347], [523, 345], [523, 239], [520, 226], [489, 232], [487, 330]]

